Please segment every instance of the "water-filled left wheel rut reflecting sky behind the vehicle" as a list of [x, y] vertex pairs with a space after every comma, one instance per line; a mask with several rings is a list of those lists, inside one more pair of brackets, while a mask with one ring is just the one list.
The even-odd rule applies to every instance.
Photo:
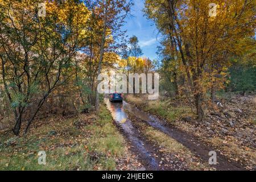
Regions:
[[159, 170], [159, 162], [153, 157], [154, 150], [152, 150], [148, 143], [140, 139], [139, 132], [134, 129], [133, 124], [127, 117], [125, 112], [127, 103], [111, 103], [107, 98], [105, 98], [104, 101], [112, 113], [114, 121], [126, 135], [127, 139], [134, 147], [135, 152], [143, 159], [145, 168], [147, 170]]

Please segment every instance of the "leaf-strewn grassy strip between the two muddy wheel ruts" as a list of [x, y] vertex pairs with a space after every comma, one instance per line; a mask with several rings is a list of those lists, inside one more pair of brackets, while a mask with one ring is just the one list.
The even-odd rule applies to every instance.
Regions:
[[151, 147], [154, 148], [154, 157], [160, 160], [159, 166], [164, 166], [164, 169], [172, 171], [215, 170], [177, 140], [147, 125], [134, 115], [129, 115], [129, 118], [133, 120], [141, 138], [149, 142]]

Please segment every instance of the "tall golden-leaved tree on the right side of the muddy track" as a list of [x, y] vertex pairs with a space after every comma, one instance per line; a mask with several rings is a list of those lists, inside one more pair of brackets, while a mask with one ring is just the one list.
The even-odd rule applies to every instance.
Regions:
[[[237, 51], [237, 43], [254, 35], [255, 1], [215, 1], [217, 15], [209, 16], [211, 1], [147, 0], [145, 12], [163, 34], [170, 34], [181, 63], [197, 115], [204, 118], [204, 94], [212, 79], [230, 66], [227, 54]], [[221, 68], [221, 69], [219, 69]], [[221, 88], [223, 82], [215, 88]]]

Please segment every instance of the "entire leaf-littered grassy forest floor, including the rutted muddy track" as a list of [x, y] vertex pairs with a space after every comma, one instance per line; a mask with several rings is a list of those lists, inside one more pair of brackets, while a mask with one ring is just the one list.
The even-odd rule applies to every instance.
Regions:
[[[208, 111], [204, 123], [177, 101], [127, 99], [141, 109], [105, 100], [111, 114], [102, 105], [98, 117], [55, 116], [35, 121], [26, 138], [1, 135], [0, 169], [255, 169], [255, 97], [220, 100], [224, 107]], [[212, 150], [217, 166], [208, 164]], [[38, 164], [39, 151], [47, 153], [45, 166]]]

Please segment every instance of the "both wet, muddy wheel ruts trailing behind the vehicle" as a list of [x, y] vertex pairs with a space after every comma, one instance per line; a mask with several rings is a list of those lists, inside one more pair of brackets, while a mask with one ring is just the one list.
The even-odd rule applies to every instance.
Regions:
[[[108, 99], [105, 98], [105, 103], [112, 113], [114, 120], [123, 130], [123, 133], [125, 133], [126, 137], [129, 138], [131, 143], [139, 150], [139, 152], [143, 155], [143, 158], [146, 158], [148, 161], [150, 161], [149, 165], [152, 166], [153, 169], [158, 169], [158, 161], [156, 161], [155, 158], [152, 158], [152, 152], [150, 152], [152, 150], [150, 146], [145, 144], [146, 141], [143, 141], [138, 131], [134, 129], [133, 123], [128, 118], [127, 113], [133, 114], [135, 117], [146, 122], [151, 127], [154, 127], [162, 133], [167, 134], [169, 137], [177, 140], [189, 148], [189, 150], [191, 150], [196, 156], [204, 160], [204, 162], [208, 163], [210, 158], [209, 152], [214, 151], [214, 148], [202, 144], [196, 137], [184, 133], [183, 131], [177, 130], [174, 127], [167, 126], [165, 121], [162, 121], [151, 114], [145, 113], [144, 111], [125, 101], [123, 101], [123, 103], [111, 103]], [[212, 167], [218, 170], [244, 169], [240, 164], [229, 162], [229, 160], [222, 156], [218, 151], [216, 152], [218, 164]]]

